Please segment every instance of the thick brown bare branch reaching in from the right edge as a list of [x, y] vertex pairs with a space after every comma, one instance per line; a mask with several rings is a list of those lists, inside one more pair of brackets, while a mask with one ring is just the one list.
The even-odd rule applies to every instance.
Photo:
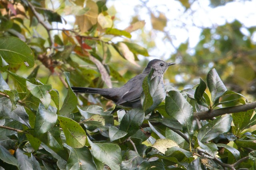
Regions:
[[232, 107], [225, 107], [215, 110], [208, 110], [208, 111], [201, 111], [201, 112], [194, 112], [194, 117], [197, 117], [200, 120], [211, 119], [216, 116], [229, 114], [229, 113], [238, 113], [240, 111], [248, 111], [250, 109], [256, 108], [256, 102], [251, 102], [244, 105], [239, 106], [232, 106]]

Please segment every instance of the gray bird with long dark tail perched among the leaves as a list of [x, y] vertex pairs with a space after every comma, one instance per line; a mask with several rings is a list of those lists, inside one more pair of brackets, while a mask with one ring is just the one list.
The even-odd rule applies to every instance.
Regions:
[[[154, 69], [152, 78], [155, 76], [163, 77], [167, 68], [175, 63], [166, 63], [159, 59], [150, 61], [141, 74], [130, 79], [124, 86], [119, 88], [88, 88], [88, 87], [71, 87], [74, 92], [100, 94], [104, 98], [112, 100], [116, 105], [125, 107], [138, 108], [142, 107], [140, 96], [143, 92], [142, 82], [150, 73], [151, 68]], [[161, 78], [162, 79], [162, 78]], [[163, 79], [162, 79], [163, 80]]]

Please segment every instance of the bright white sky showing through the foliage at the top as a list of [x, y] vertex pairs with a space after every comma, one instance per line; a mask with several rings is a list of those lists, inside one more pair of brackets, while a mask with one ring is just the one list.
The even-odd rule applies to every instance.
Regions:
[[[146, 21], [144, 29], [152, 30], [150, 13], [147, 8], [142, 7], [142, 1], [108, 0], [107, 7], [110, 9], [111, 6], [114, 6], [116, 18], [122, 19], [115, 21], [115, 27], [125, 29], [128, 27], [132, 16], [139, 13], [140, 20]], [[166, 15], [168, 23], [164, 31], [170, 35], [173, 43], [163, 41], [165, 35], [161, 31], [154, 31], [153, 37], [156, 41], [156, 47], [149, 50], [150, 55], [154, 58], [159, 56], [170, 58], [170, 55], [176, 51], [175, 48], [187, 40], [191, 49], [188, 53], [193, 53], [193, 47], [199, 41], [202, 27], [216, 27], [217, 25], [224, 25], [226, 22], [238, 20], [244, 25], [241, 31], [244, 35], [249, 35], [245, 27], [256, 26], [256, 0], [230, 2], [217, 8], [211, 8], [208, 0], [198, 0], [192, 4], [191, 10], [186, 12], [184, 12], [184, 6], [177, 0], [148, 0], [147, 7], [156, 16], [159, 14], [158, 12]], [[132, 33], [132, 40], [138, 39], [139, 33], [139, 31]], [[256, 33], [253, 37], [254, 43], [256, 43]], [[118, 40], [120, 39], [116, 39], [116, 41]]]

